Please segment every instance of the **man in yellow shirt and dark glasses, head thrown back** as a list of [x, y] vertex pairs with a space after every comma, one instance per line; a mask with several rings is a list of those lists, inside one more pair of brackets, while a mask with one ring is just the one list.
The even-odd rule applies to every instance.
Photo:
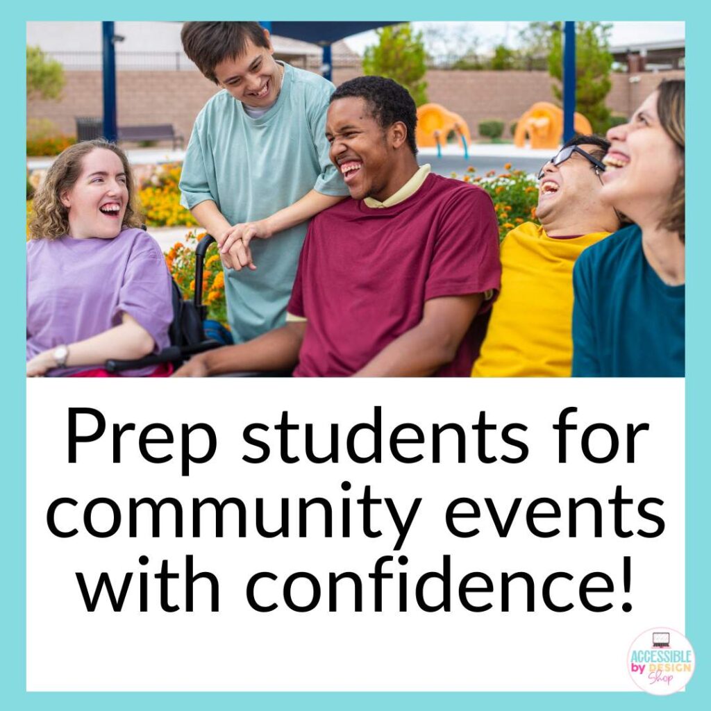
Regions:
[[539, 176], [536, 216], [501, 242], [501, 294], [471, 375], [570, 376], [572, 272], [582, 250], [620, 227], [600, 201], [609, 142], [576, 136]]

